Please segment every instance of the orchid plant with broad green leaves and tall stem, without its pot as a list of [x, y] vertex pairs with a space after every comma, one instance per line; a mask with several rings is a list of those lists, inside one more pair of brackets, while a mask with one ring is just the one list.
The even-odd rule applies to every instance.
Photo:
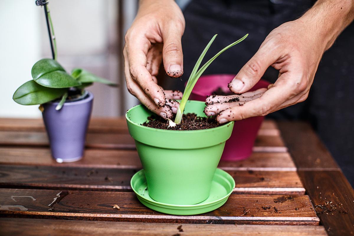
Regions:
[[71, 94], [83, 94], [84, 89], [92, 85], [93, 82], [117, 86], [109, 80], [98, 77], [80, 68], [76, 68], [71, 74], [68, 74], [57, 62], [56, 38], [47, 3], [46, 0], [36, 1], [37, 5], [44, 6], [45, 9], [53, 59], [44, 58], [33, 65], [33, 80], [27, 81], [21, 85], [13, 94], [13, 100], [22, 105], [36, 105], [60, 98], [56, 107], [56, 110], [60, 110], [67, 98], [70, 98]]

